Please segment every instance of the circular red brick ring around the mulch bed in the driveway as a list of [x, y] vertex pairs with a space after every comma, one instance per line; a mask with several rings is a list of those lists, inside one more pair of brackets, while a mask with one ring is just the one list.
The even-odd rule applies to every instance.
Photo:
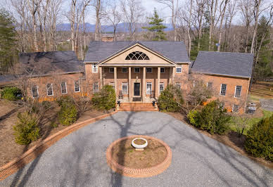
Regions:
[[[115, 162], [115, 160], [113, 160], [111, 150], [113, 146], [115, 146], [117, 143], [120, 143], [120, 141], [129, 139], [129, 138], [146, 138], [146, 139], [152, 139], [152, 140], [158, 141], [167, 150], [167, 156], [165, 157], [165, 160], [163, 160], [163, 162], [161, 162], [158, 165], [155, 165], [153, 167], [146, 167], [143, 169], [129, 168], [129, 167], [125, 167], [118, 164], [118, 162]], [[141, 136], [141, 135], [127, 136], [124, 138], [119, 138], [118, 140], [111, 143], [110, 146], [108, 146], [106, 150], [106, 161], [108, 166], [111, 169], [113, 169], [114, 172], [118, 172], [119, 174], [122, 174], [123, 176], [149, 177], [149, 176], [155, 176], [157, 174], [164, 172], [165, 169], [167, 169], [170, 166], [172, 162], [172, 150], [170, 149], [169, 146], [167, 146], [165, 142], [161, 141], [158, 138], [153, 138], [151, 136]]]

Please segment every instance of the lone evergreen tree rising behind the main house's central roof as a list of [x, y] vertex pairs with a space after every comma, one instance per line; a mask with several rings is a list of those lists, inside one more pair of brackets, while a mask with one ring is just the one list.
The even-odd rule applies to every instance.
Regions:
[[151, 20], [149, 22], [149, 27], [142, 27], [143, 29], [146, 29], [148, 31], [153, 32], [153, 41], [160, 41], [160, 40], [166, 40], [165, 32], [163, 30], [167, 28], [165, 25], [163, 25], [163, 19], [159, 18], [158, 12], [156, 9], [154, 10], [153, 17], [148, 18]]

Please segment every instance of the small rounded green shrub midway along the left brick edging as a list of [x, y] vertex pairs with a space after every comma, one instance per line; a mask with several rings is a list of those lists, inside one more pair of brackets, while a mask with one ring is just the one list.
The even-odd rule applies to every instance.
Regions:
[[77, 121], [77, 108], [72, 103], [62, 104], [58, 112], [58, 120], [63, 125], [70, 125]]

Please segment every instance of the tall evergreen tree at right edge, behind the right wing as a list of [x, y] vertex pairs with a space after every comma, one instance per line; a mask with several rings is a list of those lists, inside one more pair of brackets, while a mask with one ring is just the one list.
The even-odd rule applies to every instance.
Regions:
[[268, 20], [265, 16], [260, 18], [257, 30], [257, 50], [258, 62], [255, 65], [255, 80], [267, 79], [272, 75], [272, 68], [270, 63], [273, 61], [272, 49], [270, 49], [270, 26], [267, 24]]

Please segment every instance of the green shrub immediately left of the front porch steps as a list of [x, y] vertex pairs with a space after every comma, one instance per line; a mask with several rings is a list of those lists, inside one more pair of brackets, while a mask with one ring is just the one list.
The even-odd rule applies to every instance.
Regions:
[[92, 103], [99, 110], [115, 108], [115, 89], [110, 85], [103, 86], [99, 93], [94, 94]]

